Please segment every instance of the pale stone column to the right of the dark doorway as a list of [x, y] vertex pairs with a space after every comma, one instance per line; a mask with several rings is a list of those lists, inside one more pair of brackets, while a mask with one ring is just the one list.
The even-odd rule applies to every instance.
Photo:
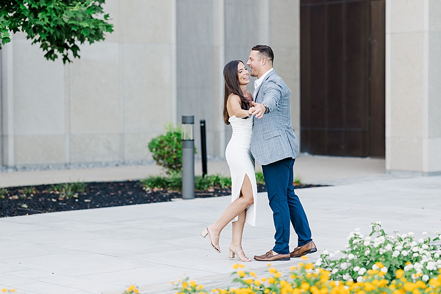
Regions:
[[386, 0], [386, 170], [441, 173], [441, 1]]

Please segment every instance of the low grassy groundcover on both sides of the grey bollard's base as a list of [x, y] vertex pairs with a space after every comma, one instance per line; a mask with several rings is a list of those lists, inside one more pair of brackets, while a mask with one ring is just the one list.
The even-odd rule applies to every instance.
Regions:
[[[141, 182], [144, 184], [145, 189], [182, 190], [182, 174], [180, 172], [171, 172], [169, 176], [150, 176]], [[196, 191], [206, 191], [213, 187], [230, 188], [231, 178], [221, 175], [198, 175], [195, 177]]]

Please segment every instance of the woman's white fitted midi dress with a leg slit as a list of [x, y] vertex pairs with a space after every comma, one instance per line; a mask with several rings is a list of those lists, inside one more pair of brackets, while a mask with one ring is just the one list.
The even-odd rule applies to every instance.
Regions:
[[[257, 184], [254, 172], [254, 157], [251, 154], [251, 135], [253, 130], [253, 117], [246, 120], [232, 116], [229, 118], [233, 128], [230, 142], [225, 149], [225, 158], [231, 173], [231, 202], [239, 198], [241, 195], [242, 185], [244, 183], [245, 174], [251, 182], [253, 189], [254, 203], [246, 208], [245, 222], [250, 225], [256, 225], [256, 200], [257, 200]], [[237, 217], [233, 220], [237, 221]]]

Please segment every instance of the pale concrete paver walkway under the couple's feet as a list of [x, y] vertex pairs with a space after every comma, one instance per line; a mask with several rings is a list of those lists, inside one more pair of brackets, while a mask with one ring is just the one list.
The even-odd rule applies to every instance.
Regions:
[[[414, 231], [417, 237], [441, 229], [441, 176], [385, 175], [296, 193], [319, 249], [342, 249], [355, 227], [368, 234], [370, 221], [382, 221], [387, 232]], [[170, 282], [185, 276], [224, 286], [237, 262], [227, 257], [231, 225], [221, 234], [221, 254], [199, 233], [229, 203], [225, 196], [2, 218], [0, 287], [25, 294], [121, 294], [136, 284], [143, 293], [173, 293]], [[257, 225], [246, 225], [244, 233], [250, 257], [273, 245], [265, 193], [257, 205]], [[273, 266], [286, 270], [296, 263]], [[245, 266], [257, 273], [267, 270], [266, 263], [256, 261]]]

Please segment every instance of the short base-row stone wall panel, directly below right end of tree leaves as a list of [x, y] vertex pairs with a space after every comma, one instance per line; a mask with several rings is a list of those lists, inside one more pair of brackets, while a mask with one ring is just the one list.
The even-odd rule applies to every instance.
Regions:
[[120, 134], [71, 135], [71, 162], [112, 162], [122, 160]]

